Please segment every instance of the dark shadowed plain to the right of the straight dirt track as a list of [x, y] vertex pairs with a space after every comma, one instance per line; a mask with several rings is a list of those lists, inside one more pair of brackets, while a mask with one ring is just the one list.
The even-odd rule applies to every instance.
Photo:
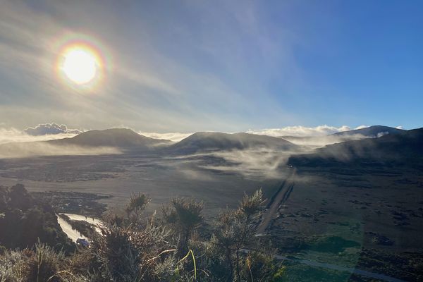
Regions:
[[419, 281], [422, 204], [420, 171], [308, 168], [267, 231], [287, 255]]

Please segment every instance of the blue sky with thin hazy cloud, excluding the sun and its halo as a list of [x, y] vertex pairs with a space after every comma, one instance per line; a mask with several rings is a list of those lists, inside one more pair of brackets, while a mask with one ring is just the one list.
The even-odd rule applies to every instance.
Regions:
[[[421, 127], [422, 13], [422, 1], [4, 1], [0, 126]], [[111, 54], [96, 92], [52, 75], [66, 32]]]

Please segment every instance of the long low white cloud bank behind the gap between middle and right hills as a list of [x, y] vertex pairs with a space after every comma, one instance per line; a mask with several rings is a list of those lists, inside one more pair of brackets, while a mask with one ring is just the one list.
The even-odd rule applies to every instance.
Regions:
[[[367, 128], [366, 125], [360, 125], [355, 129]], [[269, 135], [269, 136], [324, 136], [342, 131], [351, 130], [347, 125], [341, 127], [330, 125], [319, 125], [314, 128], [301, 125], [286, 126], [284, 128], [267, 128], [262, 130], [247, 130], [247, 133]]]

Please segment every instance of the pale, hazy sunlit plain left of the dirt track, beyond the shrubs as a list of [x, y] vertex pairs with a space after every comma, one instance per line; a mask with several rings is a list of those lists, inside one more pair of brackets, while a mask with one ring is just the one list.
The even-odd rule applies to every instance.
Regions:
[[[123, 207], [131, 193], [142, 192], [152, 202], [147, 212], [172, 197], [194, 197], [204, 202], [204, 214], [236, 207], [244, 192], [263, 188], [271, 195], [283, 179], [266, 178], [262, 171], [240, 173], [234, 163], [211, 154], [168, 157], [157, 154], [33, 157], [0, 160], [1, 185], [23, 183], [32, 192], [87, 192], [105, 197], [109, 207]], [[219, 168], [219, 169], [217, 169]]]

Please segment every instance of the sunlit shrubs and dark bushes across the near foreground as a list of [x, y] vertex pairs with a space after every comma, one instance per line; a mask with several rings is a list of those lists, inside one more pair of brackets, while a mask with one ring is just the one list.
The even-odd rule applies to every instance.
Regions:
[[[10, 231], [11, 226], [29, 224], [28, 216], [48, 206], [35, 202], [23, 185], [2, 187], [0, 195], [1, 282], [285, 281], [271, 248], [255, 237], [261, 190], [245, 195], [238, 209], [226, 209], [209, 228], [201, 202], [174, 198], [157, 214], [145, 216], [149, 198], [133, 195], [125, 211], [104, 216], [102, 234], [92, 235], [89, 248], [75, 250], [68, 241], [59, 243], [63, 238], [57, 235], [57, 221], [49, 231], [55, 236], [45, 235], [46, 223], [53, 222], [46, 216], [54, 216], [51, 209], [38, 212], [42, 228]], [[13, 241], [11, 232], [30, 239], [16, 236]]]

